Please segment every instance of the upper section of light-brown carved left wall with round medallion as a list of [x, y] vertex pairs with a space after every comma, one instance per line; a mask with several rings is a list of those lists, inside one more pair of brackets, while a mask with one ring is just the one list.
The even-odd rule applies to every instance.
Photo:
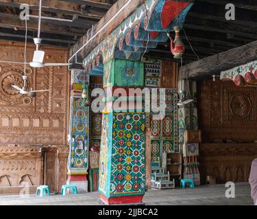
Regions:
[[[34, 45], [27, 49], [32, 60]], [[44, 47], [45, 62], [66, 62], [67, 51]], [[24, 45], [0, 42], [1, 60], [23, 62]], [[38, 93], [35, 99], [21, 95], [11, 84], [23, 85], [23, 64], [0, 64], [0, 145], [7, 144], [66, 144], [68, 98], [67, 67], [30, 68], [27, 66], [29, 87]]]

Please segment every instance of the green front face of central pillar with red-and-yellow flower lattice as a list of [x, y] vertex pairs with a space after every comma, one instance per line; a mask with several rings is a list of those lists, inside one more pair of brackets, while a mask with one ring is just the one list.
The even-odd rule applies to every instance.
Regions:
[[145, 193], [145, 114], [114, 113], [110, 196]]

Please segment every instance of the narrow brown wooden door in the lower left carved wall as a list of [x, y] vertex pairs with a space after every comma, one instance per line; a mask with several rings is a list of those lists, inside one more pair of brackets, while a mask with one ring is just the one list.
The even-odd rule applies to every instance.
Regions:
[[49, 186], [50, 192], [56, 192], [58, 190], [57, 149], [45, 149], [44, 152], [44, 183]]

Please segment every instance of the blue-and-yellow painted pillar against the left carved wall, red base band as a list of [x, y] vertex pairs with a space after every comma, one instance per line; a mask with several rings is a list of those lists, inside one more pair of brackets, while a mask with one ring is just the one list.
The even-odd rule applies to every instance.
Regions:
[[84, 70], [71, 70], [69, 120], [69, 157], [67, 184], [77, 186], [77, 192], [88, 192], [88, 118], [89, 107], [82, 104], [82, 88], [89, 77]]

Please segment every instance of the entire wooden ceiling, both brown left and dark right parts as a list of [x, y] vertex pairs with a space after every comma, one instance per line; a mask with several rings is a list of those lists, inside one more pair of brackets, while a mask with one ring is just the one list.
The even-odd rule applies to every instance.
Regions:
[[[73, 20], [49, 21], [42, 19], [42, 44], [71, 47], [86, 34], [106, 14], [117, 0], [44, 0], [42, 16], [51, 16]], [[38, 0], [0, 0], [0, 40], [24, 42], [25, 22], [19, 18], [21, 3], [30, 5], [30, 13], [38, 15]], [[236, 20], [225, 20], [225, 4], [234, 3]], [[37, 34], [36, 18], [28, 22], [29, 42]], [[257, 1], [256, 0], [196, 0], [186, 16], [182, 39], [186, 46], [184, 61], [197, 60], [191, 46], [199, 59], [239, 47], [257, 39]], [[148, 56], [171, 59], [169, 42], [160, 43]]]

